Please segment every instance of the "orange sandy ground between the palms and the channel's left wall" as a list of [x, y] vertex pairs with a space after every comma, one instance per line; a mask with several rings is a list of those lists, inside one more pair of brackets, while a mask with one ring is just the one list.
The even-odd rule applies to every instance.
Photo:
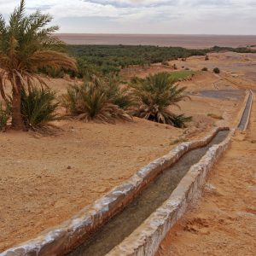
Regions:
[[[236, 89], [241, 79], [234, 78], [234, 83], [198, 73], [183, 81], [195, 94], [181, 103], [182, 111], [193, 115], [184, 130], [142, 119], [117, 125], [65, 120], [56, 123], [61, 131], [50, 137], [1, 133], [0, 252], [71, 218], [175, 143], [203, 137], [216, 125], [233, 125], [241, 108], [239, 100], [203, 97], [197, 92], [214, 89], [216, 81], [219, 89]], [[61, 93], [70, 83], [51, 79], [49, 86]], [[208, 113], [224, 119], [212, 119]]]

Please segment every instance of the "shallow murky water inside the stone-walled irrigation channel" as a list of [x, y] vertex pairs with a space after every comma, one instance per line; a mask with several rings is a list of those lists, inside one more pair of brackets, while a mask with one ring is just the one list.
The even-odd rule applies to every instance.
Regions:
[[[247, 116], [252, 101], [253, 94], [249, 92], [246, 108], [238, 127], [241, 130], [247, 124]], [[195, 148], [184, 154], [173, 166], [166, 168], [154, 182], [150, 183], [146, 189], [143, 189], [141, 194], [125, 207], [122, 212], [113, 216], [83, 244], [75, 248], [73, 252], [67, 253], [67, 256], [102, 256], [111, 251], [113, 247], [123, 241], [126, 236], [129, 236], [133, 230], [136, 230], [152, 212], [170, 197], [177, 184], [189, 171], [189, 168], [201, 160], [201, 157], [206, 154], [213, 144], [223, 142], [229, 132], [218, 131], [207, 146]]]

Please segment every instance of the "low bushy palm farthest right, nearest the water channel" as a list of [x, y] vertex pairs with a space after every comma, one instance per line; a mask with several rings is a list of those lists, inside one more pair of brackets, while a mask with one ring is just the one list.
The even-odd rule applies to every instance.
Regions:
[[149, 75], [146, 79], [133, 79], [131, 88], [136, 102], [133, 114], [154, 122], [184, 127], [191, 117], [177, 115], [169, 109], [171, 106], [179, 108], [177, 102], [188, 97], [183, 93], [186, 87], [179, 88], [174, 82], [175, 79], [170, 73], [157, 73]]

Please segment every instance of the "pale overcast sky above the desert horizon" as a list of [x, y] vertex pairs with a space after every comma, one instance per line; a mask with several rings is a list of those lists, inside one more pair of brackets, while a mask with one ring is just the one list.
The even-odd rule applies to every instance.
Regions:
[[[20, 0], [0, 0], [5, 17]], [[256, 0], [26, 0], [60, 32], [256, 35]]]

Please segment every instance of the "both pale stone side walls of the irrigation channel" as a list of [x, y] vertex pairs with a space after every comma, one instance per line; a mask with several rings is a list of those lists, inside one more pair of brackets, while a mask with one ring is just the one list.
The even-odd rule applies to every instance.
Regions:
[[[238, 124], [248, 98], [247, 93], [243, 103], [244, 107], [241, 108], [239, 114]], [[218, 131], [228, 129], [228, 127], [218, 127], [201, 140], [179, 144], [169, 154], [152, 161], [128, 181], [115, 187], [90, 206], [84, 207], [73, 218], [53, 229], [45, 230], [35, 239], [9, 248], [0, 253], [0, 256], [57, 256], [68, 253], [129, 204], [148, 183], [154, 180], [160, 172], [177, 162], [183, 154], [207, 145]], [[154, 255], [160, 241], [166, 236], [166, 232], [182, 216], [189, 203], [201, 194], [201, 187], [205, 182], [207, 172], [228, 147], [235, 131], [236, 129], [233, 129], [223, 143], [212, 146], [201, 161], [190, 168], [177, 189], [172, 192], [169, 200], [152, 213], [131, 236], [128, 236], [119, 246], [114, 247], [108, 255]]]

